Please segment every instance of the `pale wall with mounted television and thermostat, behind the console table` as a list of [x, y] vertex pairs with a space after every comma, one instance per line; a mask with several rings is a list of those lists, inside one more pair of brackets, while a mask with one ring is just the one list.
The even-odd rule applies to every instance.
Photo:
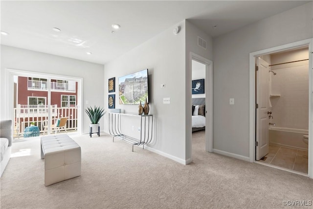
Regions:
[[[180, 26], [179, 34], [173, 28]], [[186, 162], [185, 155], [185, 21], [182, 21], [156, 37], [137, 46], [128, 53], [114, 59], [104, 66], [104, 80], [115, 77], [115, 108], [125, 113], [136, 113], [138, 105], [122, 105], [118, 102], [118, 78], [139, 70], [149, 72], [149, 114], [154, 116], [154, 140], [149, 149], [180, 163]], [[161, 88], [165, 84], [165, 88]], [[108, 104], [108, 86], [105, 85], [105, 104]], [[111, 94], [111, 93], [110, 93]], [[170, 97], [170, 104], [163, 104], [163, 98]], [[107, 117], [107, 116], [106, 116]], [[131, 126], [138, 121], [122, 127], [132, 134]], [[128, 127], [125, 127], [128, 126]], [[106, 131], [108, 124], [105, 125]], [[138, 132], [137, 129], [133, 132]], [[133, 133], [134, 135], [136, 133]]]

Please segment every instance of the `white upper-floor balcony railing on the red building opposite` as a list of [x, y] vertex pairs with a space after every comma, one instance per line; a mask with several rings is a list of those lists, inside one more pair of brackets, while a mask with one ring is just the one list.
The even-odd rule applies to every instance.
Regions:
[[[28, 80], [27, 89], [28, 90], [47, 91], [48, 90], [48, 82], [47, 81]], [[69, 82], [69, 83], [51, 82], [51, 91], [76, 92], [76, 83], [75, 82]]]

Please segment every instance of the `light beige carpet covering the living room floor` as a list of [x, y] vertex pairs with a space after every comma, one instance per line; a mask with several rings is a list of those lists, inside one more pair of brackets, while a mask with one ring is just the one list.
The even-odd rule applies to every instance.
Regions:
[[[308, 177], [204, 151], [193, 135], [193, 163], [182, 165], [110, 136], [72, 137], [82, 149], [82, 175], [44, 186], [40, 140], [13, 143], [1, 177], [1, 209], [286, 208], [312, 201]], [[288, 207], [293, 208], [293, 207]], [[299, 208], [299, 207], [298, 207]], [[310, 208], [310, 207], [308, 207]]]

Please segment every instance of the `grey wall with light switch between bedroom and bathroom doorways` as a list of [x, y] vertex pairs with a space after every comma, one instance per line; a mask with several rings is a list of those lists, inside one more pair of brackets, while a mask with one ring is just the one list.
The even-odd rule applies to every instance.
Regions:
[[214, 149], [248, 160], [249, 53], [312, 38], [312, 11], [309, 2], [213, 39]]

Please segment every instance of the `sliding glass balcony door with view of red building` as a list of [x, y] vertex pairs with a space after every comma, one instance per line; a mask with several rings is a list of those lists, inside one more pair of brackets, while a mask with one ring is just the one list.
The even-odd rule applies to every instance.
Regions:
[[68, 134], [81, 133], [81, 78], [13, 69], [8, 72], [15, 141], [50, 134], [51, 126], [64, 117]]

